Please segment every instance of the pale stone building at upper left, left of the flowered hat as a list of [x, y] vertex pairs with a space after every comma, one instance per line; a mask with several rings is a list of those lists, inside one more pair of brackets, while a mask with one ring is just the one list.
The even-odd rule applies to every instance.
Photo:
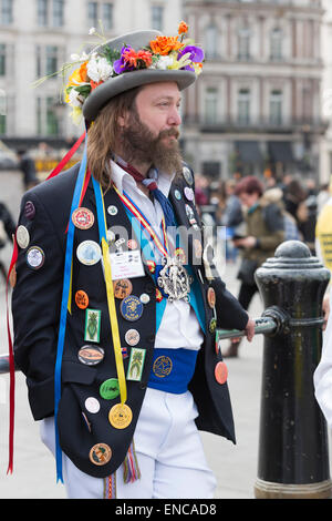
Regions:
[[173, 34], [180, 17], [179, 0], [0, 0], [0, 101], [6, 112], [0, 140], [56, 144], [80, 134], [61, 103], [61, 80], [31, 85], [59, 71], [71, 54], [100, 43], [89, 37], [90, 28], [100, 29], [100, 20], [105, 37], [115, 38], [151, 27]]

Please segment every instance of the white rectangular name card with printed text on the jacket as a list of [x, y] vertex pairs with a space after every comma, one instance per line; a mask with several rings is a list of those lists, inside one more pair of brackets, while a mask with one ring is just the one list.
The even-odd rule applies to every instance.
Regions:
[[144, 266], [139, 249], [110, 253], [112, 278], [135, 278], [144, 276]]

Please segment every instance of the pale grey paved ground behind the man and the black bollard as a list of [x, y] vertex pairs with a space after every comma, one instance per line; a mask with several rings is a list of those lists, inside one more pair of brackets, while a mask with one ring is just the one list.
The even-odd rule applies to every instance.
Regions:
[[[0, 197], [18, 213], [22, 194], [20, 177], [17, 173], [0, 172]], [[2, 258], [9, 259], [7, 248]], [[237, 295], [237, 266], [228, 265], [225, 280], [228, 288]], [[261, 315], [262, 307], [257, 295], [252, 302], [252, 317]], [[0, 353], [7, 353], [6, 303], [3, 287], [0, 287]], [[225, 346], [227, 345], [227, 341]], [[237, 430], [237, 445], [203, 433], [206, 454], [217, 480], [216, 497], [219, 499], [251, 499], [257, 477], [259, 443], [259, 410], [262, 366], [262, 336], [251, 344], [242, 343], [240, 357], [228, 360], [229, 388], [232, 398]], [[15, 451], [14, 473], [6, 476], [8, 463], [8, 417], [9, 378], [0, 376], [0, 499], [64, 498], [64, 488], [55, 484], [53, 457], [39, 440], [39, 426], [34, 422], [28, 406], [24, 378], [17, 374], [15, 391]]]

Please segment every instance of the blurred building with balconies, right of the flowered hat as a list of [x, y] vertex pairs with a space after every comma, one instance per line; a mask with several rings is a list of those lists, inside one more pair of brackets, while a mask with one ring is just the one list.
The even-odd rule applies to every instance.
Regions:
[[186, 154], [210, 176], [320, 170], [321, 0], [184, 0], [206, 50], [187, 93]]

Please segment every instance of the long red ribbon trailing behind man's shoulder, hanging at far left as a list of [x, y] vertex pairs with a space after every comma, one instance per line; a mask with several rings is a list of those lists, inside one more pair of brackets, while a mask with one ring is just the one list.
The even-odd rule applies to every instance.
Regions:
[[[55, 177], [55, 175], [60, 174], [60, 172], [64, 168], [66, 163], [72, 159], [74, 153], [77, 151], [80, 145], [82, 144], [84, 137], [86, 135], [86, 132], [79, 137], [76, 143], [71, 147], [71, 150], [65, 154], [65, 156], [61, 160], [61, 162], [55, 166], [55, 168], [51, 172], [51, 174], [48, 176], [46, 181]], [[81, 202], [83, 201], [83, 197], [85, 195], [87, 184], [90, 181], [91, 173], [90, 171], [87, 172], [87, 175], [85, 176], [85, 183], [82, 190], [82, 195], [81, 195]], [[81, 205], [80, 202], [80, 205]], [[13, 252], [12, 252], [12, 257], [10, 262], [10, 267], [8, 270], [7, 275], [7, 283], [6, 283], [6, 303], [7, 303], [7, 333], [8, 333], [8, 344], [9, 344], [9, 375], [10, 375], [10, 390], [9, 390], [9, 463], [8, 463], [8, 469], [7, 473], [12, 473], [13, 471], [13, 440], [14, 440], [14, 406], [15, 406], [15, 367], [14, 367], [14, 355], [13, 355], [13, 346], [12, 346], [12, 339], [11, 339], [11, 334], [10, 334], [10, 325], [9, 325], [9, 306], [8, 306], [8, 283], [10, 278], [10, 274], [12, 269], [14, 268], [14, 265], [17, 263], [19, 256], [19, 248], [18, 244], [15, 241], [15, 237], [13, 236]]]

